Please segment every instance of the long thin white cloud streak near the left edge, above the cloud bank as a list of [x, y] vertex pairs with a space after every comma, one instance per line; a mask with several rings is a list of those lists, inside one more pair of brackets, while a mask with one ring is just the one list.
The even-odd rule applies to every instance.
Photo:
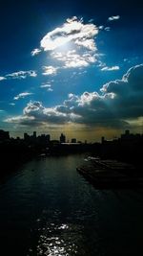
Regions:
[[27, 77], [35, 78], [37, 76], [34, 70], [29, 71], [17, 71], [6, 75], [7, 79], [26, 79]]

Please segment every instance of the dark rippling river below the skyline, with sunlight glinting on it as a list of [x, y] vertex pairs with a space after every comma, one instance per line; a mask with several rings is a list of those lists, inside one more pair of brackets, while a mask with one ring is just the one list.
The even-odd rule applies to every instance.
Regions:
[[143, 254], [143, 190], [95, 189], [83, 158], [34, 159], [1, 181], [1, 255]]

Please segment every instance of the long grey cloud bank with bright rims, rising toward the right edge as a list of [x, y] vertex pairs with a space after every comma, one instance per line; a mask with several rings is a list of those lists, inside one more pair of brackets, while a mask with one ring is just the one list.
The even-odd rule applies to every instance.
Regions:
[[125, 128], [129, 121], [143, 115], [143, 64], [128, 70], [121, 80], [110, 81], [100, 93], [69, 94], [62, 105], [45, 107], [30, 102], [23, 115], [10, 117], [9, 123], [42, 126], [44, 124], [76, 123], [97, 127]]

